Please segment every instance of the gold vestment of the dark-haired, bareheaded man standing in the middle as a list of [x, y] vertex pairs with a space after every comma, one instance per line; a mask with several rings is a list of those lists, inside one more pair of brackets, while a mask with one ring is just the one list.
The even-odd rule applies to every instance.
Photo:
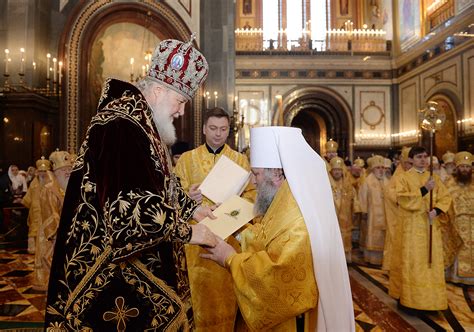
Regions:
[[[247, 157], [232, 150], [227, 144], [217, 155], [210, 153], [203, 144], [185, 152], [176, 164], [174, 171], [180, 178], [183, 189], [187, 192], [192, 184], [201, 183], [222, 155], [250, 170]], [[255, 194], [255, 187], [249, 184], [242, 197], [253, 202]], [[203, 197], [203, 205], [212, 204], [209, 199]], [[238, 247], [238, 243], [234, 243], [234, 248]], [[185, 251], [195, 330], [231, 331], [237, 313], [237, 301], [230, 273], [213, 261], [200, 258], [199, 254], [205, 250], [199, 246], [186, 245]]]

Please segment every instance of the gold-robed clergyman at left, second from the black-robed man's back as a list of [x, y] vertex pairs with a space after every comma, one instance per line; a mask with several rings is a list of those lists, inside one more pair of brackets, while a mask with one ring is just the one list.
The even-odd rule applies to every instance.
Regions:
[[51, 180], [51, 169], [49, 160], [41, 157], [36, 161], [37, 176], [31, 181], [26, 195], [21, 204], [28, 208], [28, 252], [34, 254], [36, 250], [36, 237], [38, 234], [38, 225], [41, 224], [41, 190], [43, 186]]

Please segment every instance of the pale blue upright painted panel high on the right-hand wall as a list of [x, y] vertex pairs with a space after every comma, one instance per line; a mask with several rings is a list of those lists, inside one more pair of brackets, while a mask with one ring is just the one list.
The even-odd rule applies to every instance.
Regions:
[[398, 2], [400, 48], [408, 49], [421, 38], [420, 1], [401, 0]]

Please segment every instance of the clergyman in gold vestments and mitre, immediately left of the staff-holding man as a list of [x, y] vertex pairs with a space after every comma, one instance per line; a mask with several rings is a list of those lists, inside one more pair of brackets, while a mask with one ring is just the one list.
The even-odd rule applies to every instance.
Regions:
[[359, 189], [359, 202], [363, 215], [361, 233], [364, 243], [364, 260], [370, 264], [382, 265], [385, 241], [384, 190], [388, 183], [385, 178], [384, 157], [376, 155], [370, 158], [372, 172]]

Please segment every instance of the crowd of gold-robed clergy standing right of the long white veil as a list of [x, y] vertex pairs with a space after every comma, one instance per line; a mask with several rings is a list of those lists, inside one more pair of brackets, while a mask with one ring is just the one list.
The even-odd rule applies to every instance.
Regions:
[[473, 156], [403, 147], [394, 160], [352, 163], [326, 143], [325, 159], [347, 262], [389, 276], [389, 294], [409, 312], [445, 310], [446, 282], [474, 285]]

